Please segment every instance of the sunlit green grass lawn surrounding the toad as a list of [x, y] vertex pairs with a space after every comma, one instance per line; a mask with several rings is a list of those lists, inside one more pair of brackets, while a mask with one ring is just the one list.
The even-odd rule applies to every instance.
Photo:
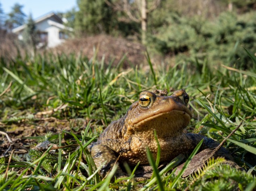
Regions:
[[[232, 67], [196, 59], [152, 66], [148, 58], [148, 65], [123, 70], [123, 59], [105, 65], [104, 59], [82, 55], [1, 58], [0, 131], [10, 140], [0, 134], [0, 191], [254, 190], [256, 59], [248, 57], [254, 67], [247, 70], [239, 69], [239, 60]], [[186, 89], [193, 112], [189, 132], [221, 142], [242, 122], [225, 147], [246, 171], [216, 159], [186, 179], [176, 176], [170, 163], [147, 181], [133, 181], [133, 173], [110, 181], [115, 169], [102, 180], [86, 146], [123, 116], [141, 91], [155, 89], [167, 89], [168, 95]], [[52, 143], [46, 151], [31, 149], [45, 140]]]

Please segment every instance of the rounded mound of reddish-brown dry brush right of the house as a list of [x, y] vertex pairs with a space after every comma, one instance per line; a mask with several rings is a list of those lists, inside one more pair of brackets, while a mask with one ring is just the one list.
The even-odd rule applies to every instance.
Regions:
[[129, 41], [121, 37], [111, 37], [109, 35], [96, 35], [81, 39], [71, 39], [62, 45], [52, 49], [54, 53], [79, 53], [92, 58], [97, 51], [97, 59], [101, 60], [104, 57], [106, 63], [114, 59], [113, 64], [117, 65], [122, 57], [126, 55], [127, 60], [123, 63], [123, 67], [127, 68], [129, 62], [132, 65], [140, 65], [144, 63], [145, 47], [141, 43]]

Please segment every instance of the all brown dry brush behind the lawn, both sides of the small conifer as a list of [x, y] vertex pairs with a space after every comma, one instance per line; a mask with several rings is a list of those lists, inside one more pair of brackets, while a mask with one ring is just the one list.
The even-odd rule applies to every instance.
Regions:
[[[20, 52], [17, 51], [18, 49]], [[81, 53], [88, 58], [94, 57], [95, 51], [97, 51], [96, 59], [104, 59], [105, 63], [113, 61], [113, 65], [117, 65], [124, 55], [126, 55], [123, 63], [124, 68], [129, 67], [129, 65], [141, 65], [146, 61], [144, 56], [146, 48], [141, 43], [129, 41], [122, 37], [111, 37], [109, 35], [69, 39], [58, 47], [37, 51], [42, 55], [44, 53], [53, 53], [54, 55], [69, 55], [71, 53], [77, 55]], [[18, 53], [24, 57], [26, 52], [30, 53], [31, 51], [25, 47], [21, 48], [21, 44], [15, 35], [6, 33], [0, 35], [0, 57], [13, 59], [17, 57]]]

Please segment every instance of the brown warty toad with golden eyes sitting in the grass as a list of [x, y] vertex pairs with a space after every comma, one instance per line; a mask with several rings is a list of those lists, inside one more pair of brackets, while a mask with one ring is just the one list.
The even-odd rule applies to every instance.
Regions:
[[[97, 142], [89, 146], [89, 151], [100, 175], [105, 177], [114, 164], [118, 165], [115, 176], [125, 173], [121, 164], [148, 164], [146, 148], [157, 155], [157, 141], [160, 144], [160, 162], [170, 162], [180, 153], [191, 153], [203, 140], [201, 150], [215, 148], [218, 142], [199, 134], [184, 133], [184, 128], [192, 117], [187, 108], [189, 95], [184, 89], [175, 91], [171, 96], [157, 96], [150, 91], [143, 91], [139, 100], [134, 102], [125, 116], [108, 125], [100, 134]], [[227, 150], [221, 147], [218, 156], [232, 160]]]

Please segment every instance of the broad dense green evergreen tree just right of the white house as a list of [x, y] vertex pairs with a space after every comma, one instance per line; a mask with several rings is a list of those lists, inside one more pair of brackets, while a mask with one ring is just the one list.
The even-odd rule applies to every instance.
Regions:
[[75, 30], [79, 33], [110, 33], [113, 10], [105, 0], [77, 0]]

